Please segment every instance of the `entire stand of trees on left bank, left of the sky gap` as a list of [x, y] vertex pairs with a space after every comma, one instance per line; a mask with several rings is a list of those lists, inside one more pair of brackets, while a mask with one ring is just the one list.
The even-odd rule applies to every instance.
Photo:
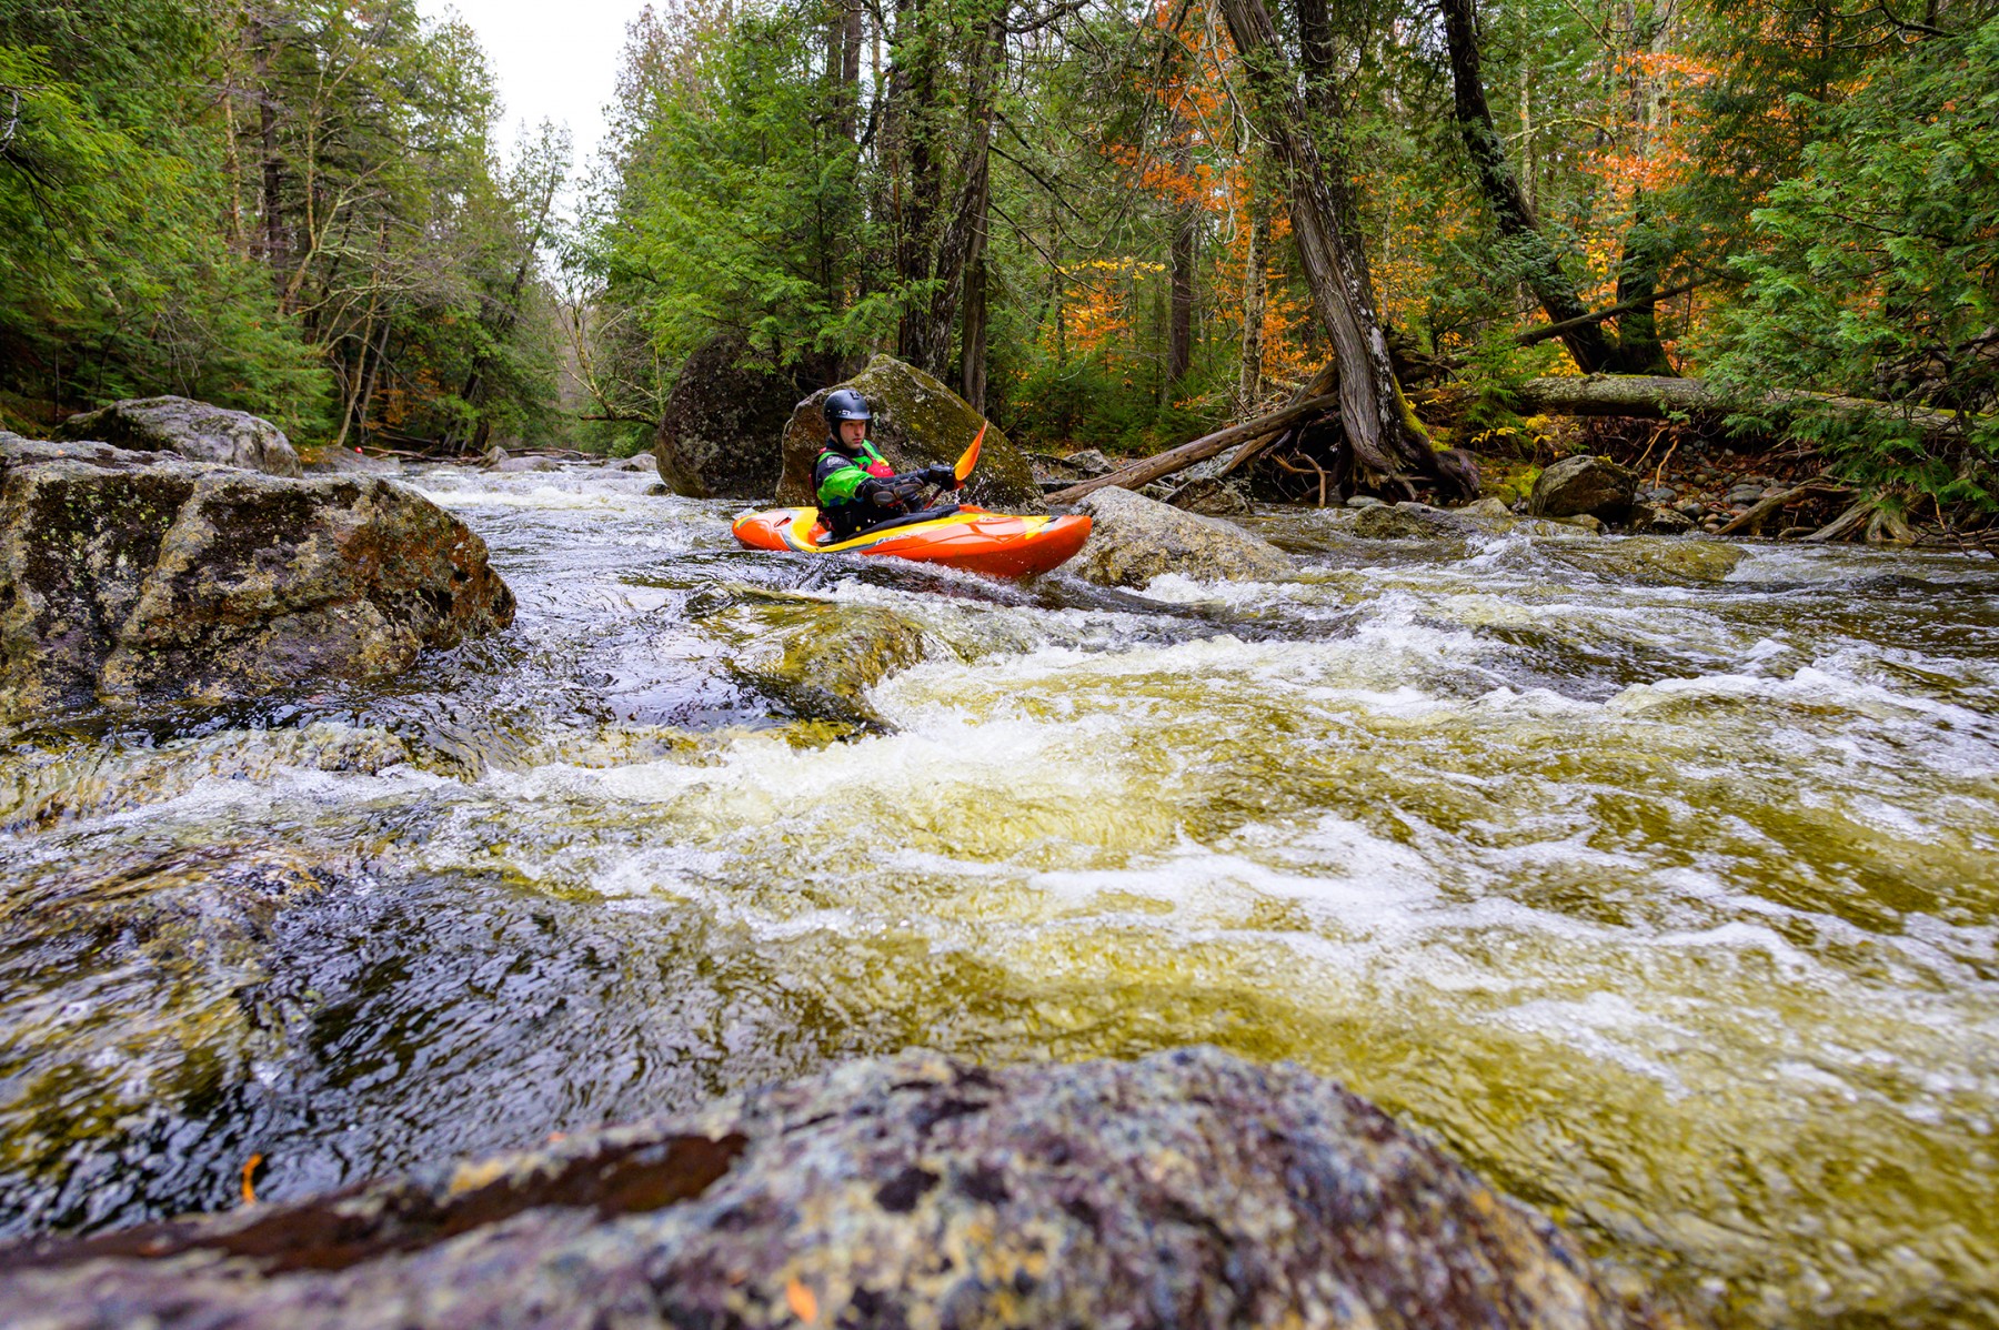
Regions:
[[568, 144], [504, 174], [412, 0], [0, 0], [0, 391], [184, 393], [304, 439], [550, 431]]

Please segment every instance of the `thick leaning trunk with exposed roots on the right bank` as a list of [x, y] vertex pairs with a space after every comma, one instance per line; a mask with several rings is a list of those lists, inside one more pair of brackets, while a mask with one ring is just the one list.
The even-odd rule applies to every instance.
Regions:
[[[1443, 471], [1421, 425], [1401, 397], [1389, 367], [1387, 337], [1375, 318], [1373, 282], [1355, 232], [1351, 192], [1337, 158], [1327, 164], [1307, 128], [1297, 76], [1277, 44], [1263, 0], [1221, 0], [1223, 16], [1261, 116], [1261, 134], [1283, 168], [1291, 200], [1291, 234], [1311, 290], [1311, 306], [1331, 333], [1339, 359], [1339, 417], [1363, 479], [1369, 485], [1401, 485], [1427, 477], [1449, 491], [1461, 491], [1457, 475]], [[1317, 10], [1313, 14], [1313, 10]], [[1315, 60], [1329, 60], [1323, 8], [1319, 0], [1299, 0], [1303, 42]], [[1315, 100], [1331, 108], [1325, 80]], [[1475, 493], [1475, 487], [1473, 487]]]

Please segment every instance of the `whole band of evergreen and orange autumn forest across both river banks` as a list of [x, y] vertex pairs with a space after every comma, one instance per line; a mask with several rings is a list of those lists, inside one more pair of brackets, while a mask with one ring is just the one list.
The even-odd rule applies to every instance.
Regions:
[[172, 391], [630, 453], [722, 347], [802, 389], [892, 351], [1029, 447], [1155, 451], [1331, 355], [1325, 226], [1435, 445], [1531, 449], [1537, 375], [1699, 375], [1751, 437], [1999, 507], [1999, 2], [1267, 4], [668, 0], [578, 168], [502, 150], [472, 32], [410, 0], [0, 0], [0, 427]]

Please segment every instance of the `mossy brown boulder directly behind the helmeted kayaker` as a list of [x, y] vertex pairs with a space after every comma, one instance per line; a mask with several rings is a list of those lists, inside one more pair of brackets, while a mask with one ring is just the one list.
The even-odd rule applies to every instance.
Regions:
[[[986, 417], [974, 411], [970, 401], [916, 365], [906, 365], [892, 355], [876, 355], [866, 369], [834, 387], [852, 387], [868, 397], [874, 411], [868, 437], [898, 471], [952, 465], [978, 435], [980, 425], [986, 425]], [[826, 443], [826, 415], [820, 411], [820, 403], [830, 391], [834, 389], [824, 387], [800, 401], [784, 427], [780, 503], [818, 503], [812, 463]], [[1027, 455], [1013, 447], [998, 425], [986, 427], [980, 465], [972, 471], [960, 497], [966, 503], [1005, 513], [1047, 511]]]

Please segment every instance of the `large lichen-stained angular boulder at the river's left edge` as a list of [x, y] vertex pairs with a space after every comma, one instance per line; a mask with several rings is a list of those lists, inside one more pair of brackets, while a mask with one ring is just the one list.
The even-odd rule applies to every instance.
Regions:
[[0, 435], [0, 715], [384, 677], [512, 621], [486, 541], [382, 477]]

